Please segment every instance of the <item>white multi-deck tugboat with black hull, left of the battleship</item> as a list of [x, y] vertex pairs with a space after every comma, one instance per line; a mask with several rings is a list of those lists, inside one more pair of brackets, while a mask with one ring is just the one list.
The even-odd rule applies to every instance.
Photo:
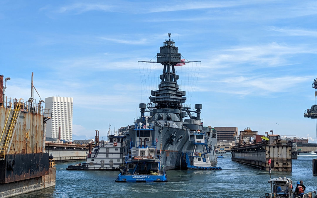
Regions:
[[120, 170], [123, 168], [127, 153], [125, 133], [114, 132], [110, 134], [108, 129], [108, 141], [93, 148], [87, 155], [86, 162], [68, 166], [67, 170]]

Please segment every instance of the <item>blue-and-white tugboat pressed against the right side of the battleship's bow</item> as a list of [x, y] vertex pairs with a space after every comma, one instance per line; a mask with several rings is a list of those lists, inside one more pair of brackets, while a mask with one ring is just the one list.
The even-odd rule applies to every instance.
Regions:
[[195, 131], [193, 133], [193, 149], [182, 152], [182, 168], [196, 170], [222, 170], [221, 167], [211, 166], [209, 155], [213, 150], [207, 148], [208, 138], [204, 131]]

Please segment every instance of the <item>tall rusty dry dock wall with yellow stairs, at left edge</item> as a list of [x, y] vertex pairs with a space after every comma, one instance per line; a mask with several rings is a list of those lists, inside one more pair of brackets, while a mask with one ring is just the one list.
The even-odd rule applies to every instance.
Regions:
[[[5, 80], [10, 80], [6, 78]], [[0, 197], [11, 197], [55, 186], [54, 159], [45, 152], [46, 121], [52, 111], [31, 97], [3, 99], [0, 75]]]

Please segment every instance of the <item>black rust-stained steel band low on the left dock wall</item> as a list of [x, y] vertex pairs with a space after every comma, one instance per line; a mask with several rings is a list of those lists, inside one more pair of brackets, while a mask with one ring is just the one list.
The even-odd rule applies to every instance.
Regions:
[[[14, 169], [10, 169], [9, 160], [15, 160]], [[0, 183], [16, 182], [49, 174], [49, 154], [30, 153], [6, 155], [0, 163]]]

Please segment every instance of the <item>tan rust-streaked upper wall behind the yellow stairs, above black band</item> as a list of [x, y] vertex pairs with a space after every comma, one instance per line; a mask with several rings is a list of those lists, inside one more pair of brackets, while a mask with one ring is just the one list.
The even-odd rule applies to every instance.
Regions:
[[[5, 120], [10, 109], [0, 107], [0, 131], [3, 131]], [[42, 153], [45, 148], [43, 142], [43, 116], [36, 113], [21, 113], [16, 131], [12, 137], [12, 145], [8, 154]]]

